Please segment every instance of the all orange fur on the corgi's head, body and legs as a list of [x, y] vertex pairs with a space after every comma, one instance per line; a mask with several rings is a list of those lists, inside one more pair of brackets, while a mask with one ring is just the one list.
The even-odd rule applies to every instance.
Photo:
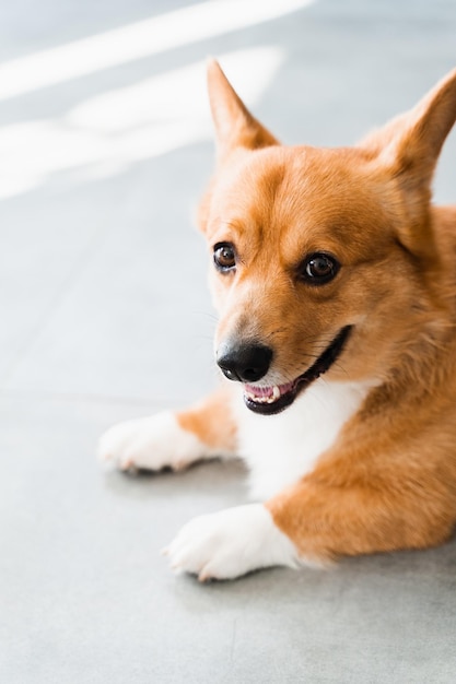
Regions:
[[[219, 165], [199, 224], [210, 247], [239, 256], [234, 272], [211, 269], [217, 343], [273, 346], [284, 384], [351, 325], [328, 378], [377, 385], [316, 468], [267, 503], [273, 520], [316, 558], [443, 542], [456, 521], [456, 208], [432, 207], [430, 184], [456, 118], [456, 71], [340, 150], [280, 145], [215, 62], [209, 90]], [[321, 287], [295, 278], [314, 251], [341, 263]], [[233, 449], [225, 401], [180, 413], [180, 426]]]

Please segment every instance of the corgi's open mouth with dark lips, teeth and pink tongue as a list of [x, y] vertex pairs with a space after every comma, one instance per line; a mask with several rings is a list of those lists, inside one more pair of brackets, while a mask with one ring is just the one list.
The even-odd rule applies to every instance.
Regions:
[[315, 363], [291, 382], [274, 385], [272, 387], [244, 385], [244, 401], [247, 409], [250, 409], [250, 411], [255, 413], [261, 413], [262, 415], [273, 415], [290, 406], [299, 393], [304, 391], [311, 382], [329, 370], [332, 364], [339, 358], [351, 329], [352, 326], [342, 328]]

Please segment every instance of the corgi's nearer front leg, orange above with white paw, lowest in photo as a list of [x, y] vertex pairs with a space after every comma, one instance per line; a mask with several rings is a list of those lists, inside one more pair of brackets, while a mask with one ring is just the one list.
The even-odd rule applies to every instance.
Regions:
[[[435, 496], [429, 481], [425, 492], [400, 474], [402, 487], [336, 486], [318, 481], [317, 470], [265, 504], [195, 518], [167, 550], [172, 567], [200, 580], [233, 579], [270, 566], [321, 566], [343, 555], [442, 543], [452, 531], [454, 502]], [[424, 493], [421, 499], [417, 492]]]

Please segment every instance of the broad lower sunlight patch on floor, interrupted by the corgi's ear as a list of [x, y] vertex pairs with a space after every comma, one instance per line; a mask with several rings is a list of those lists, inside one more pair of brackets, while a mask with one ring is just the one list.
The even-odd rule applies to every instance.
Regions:
[[[277, 74], [284, 54], [252, 48], [220, 61], [253, 106]], [[0, 128], [0, 198], [32, 190], [55, 174], [73, 181], [116, 175], [135, 162], [212, 137], [206, 62], [91, 97], [65, 117]]]

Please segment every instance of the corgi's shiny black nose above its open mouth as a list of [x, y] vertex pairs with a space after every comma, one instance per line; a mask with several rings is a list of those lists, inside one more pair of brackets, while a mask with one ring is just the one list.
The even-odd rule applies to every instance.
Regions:
[[217, 353], [217, 363], [229, 380], [256, 382], [269, 370], [272, 350], [262, 344], [224, 342]]

